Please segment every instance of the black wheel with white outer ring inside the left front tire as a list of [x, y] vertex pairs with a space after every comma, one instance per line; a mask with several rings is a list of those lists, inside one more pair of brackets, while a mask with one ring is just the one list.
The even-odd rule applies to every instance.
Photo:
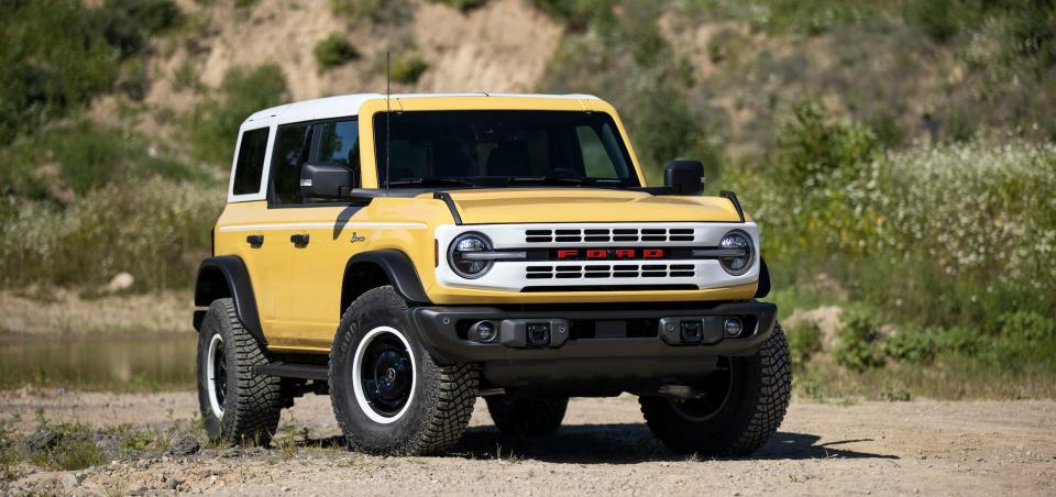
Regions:
[[363, 393], [380, 415], [392, 417], [410, 398], [414, 365], [407, 347], [395, 335], [377, 336], [363, 355]]

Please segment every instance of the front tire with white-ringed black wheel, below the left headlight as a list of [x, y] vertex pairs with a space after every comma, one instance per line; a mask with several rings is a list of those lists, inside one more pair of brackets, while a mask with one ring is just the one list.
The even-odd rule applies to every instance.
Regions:
[[462, 438], [476, 368], [437, 364], [414, 330], [392, 286], [366, 291], [341, 318], [330, 350], [330, 401], [349, 448], [429, 454]]

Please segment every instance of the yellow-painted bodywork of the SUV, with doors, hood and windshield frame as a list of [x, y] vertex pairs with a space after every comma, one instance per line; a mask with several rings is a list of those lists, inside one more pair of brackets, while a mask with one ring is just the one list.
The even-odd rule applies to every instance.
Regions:
[[[607, 112], [645, 185], [641, 166], [630, 148], [623, 123], [603, 101], [538, 97], [436, 97], [394, 98], [394, 111], [442, 109], [538, 109]], [[377, 187], [373, 166], [373, 115], [384, 112], [384, 100], [370, 100], [360, 109], [362, 185]], [[615, 189], [504, 188], [451, 190], [466, 224], [521, 222], [736, 222], [730, 202], [715, 197], [653, 197]], [[453, 288], [436, 279], [435, 230], [453, 224], [447, 206], [431, 195], [415, 198], [380, 197], [364, 207], [268, 207], [267, 201], [229, 203], [217, 222], [216, 254], [238, 255], [250, 273], [261, 324], [270, 347], [279, 351], [327, 352], [344, 309], [341, 286], [348, 261], [356, 253], [395, 248], [415, 264], [422, 288], [437, 305], [546, 303], [744, 300], [755, 295], [756, 284], [706, 290], [679, 291], [563, 291], [514, 292]], [[293, 234], [308, 234], [304, 247], [290, 242]], [[263, 235], [251, 246], [246, 236]]]

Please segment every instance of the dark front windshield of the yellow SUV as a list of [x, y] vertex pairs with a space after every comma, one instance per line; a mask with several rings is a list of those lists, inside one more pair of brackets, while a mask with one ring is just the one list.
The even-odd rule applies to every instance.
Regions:
[[[388, 186], [640, 186], [613, 119], [601, 112], [393, 112]], [[385, 112], [374, 115], [383, 187]]]

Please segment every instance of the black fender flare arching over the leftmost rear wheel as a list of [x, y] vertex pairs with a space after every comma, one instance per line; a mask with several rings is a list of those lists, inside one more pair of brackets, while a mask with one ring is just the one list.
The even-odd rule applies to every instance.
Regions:
[[[198, 277], [195, 281], [195, 306], [209, 307], [212, 301], [231, 297], [234, 301], [234, 311], [246, 331], [261, 345], [267, 345], [261, 328], [261, 316], [256, 309], [256, 296], [253, 294], [253, 281], [245, 263], [238, 255], [218, 255], [206, 258], [198, 266]], [[200, 329], [205, 311], [195, 311], [195, 329]]]

